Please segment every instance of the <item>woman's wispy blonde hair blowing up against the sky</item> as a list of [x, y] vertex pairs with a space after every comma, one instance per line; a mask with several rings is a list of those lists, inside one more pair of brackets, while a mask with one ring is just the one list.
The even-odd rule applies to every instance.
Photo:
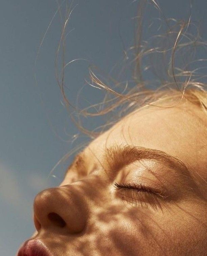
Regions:
[[[131, 81], [120, 82], [115, 78], [106, 76], [108, 80], [104, 82], [104, 79], [101, 79], [97, 75], [99, 72], [98, 68], [95, 65], [90, 65], [90, 82], [87, 83], [106, 93], [101, 102], [91, 104], [84, 109], [79, 109], [79, 107], [71, 104], [65, 94], [64, 72], [68, 63], [65, 64], [64, 58], [61, 78], [57, 75], [57, 82], [61, 88], [62, 96], [71, 119], [80, 132], [88, 135], [92, 139], [133, 110], [143, 106], [160, 107], [160, 102], [165, 102], [165, 107], [171, 107], [183, 99], [187, 99], [200, 106], [206, 113], [206, 83], [203, 82], [206, 75], [199, 73], [203, 68], [200, 64], [206, 60], [195, 60], [194, 56], [196, 49], [202, 48], [205, 50], [207, 43], [202, 41], [198, 26], [191, 22], [191, 16], [186, 21], [167, 19], [162, 13], [161, 7], [154, 0], [140, 0], [137, 2], [138, 12], [135, 17], [135, 43], [129, 49], [124, 49], [124, 65], [120, 69], [120, 73], [122, 73], [124, 70], [129, 70], [131, 65], [134, 66]], [[148, 3], [152, 3], [158, 9], [159, 16], [162, 16], [162, 18], [158, 19], [160, 27], [165, 26], [166, 29], [163, 29], [163, 33], [153, 35], [146, 41], [142, 38], [142, 25], [144, 10]], [[56, 55], [56, 65], [61, 44], [63, 45], [64, 54], [66, 27], [72, 11], [73, 8], [71, 6], [66, 10], [68, 15], [63, 24], [60, 44]], [[190, 28], [194, 29], [194, 31], [190, 32]], [[132, 55], [131, 60], [130, 55]], [[183, 59], [183, 65], [180, 65], [177, 61], [180, 56]], [[150, 60], [147, 64], [146, 58]], [[69, 63], [73, 61], [75, 60]], [[190, 64], [194, 63], [199, 63], [200, 66], [190, 68]], [[150, 69], [159, 78], [158, 80], [147, 81], [144, 79], [143, 70], [148, 71]], [[160, 73], [158, 69], [159, 71], [161, 69]], [[162, 77], [159, 77], [160, 74]], [[133, 86], [130, 87], [130, 83]], [[82, 117], [93, 118], [100, 116], [107, 116], [107, 121], [103, 125], [97, 127], [95, 130], [89, 130], [84, 127]]]

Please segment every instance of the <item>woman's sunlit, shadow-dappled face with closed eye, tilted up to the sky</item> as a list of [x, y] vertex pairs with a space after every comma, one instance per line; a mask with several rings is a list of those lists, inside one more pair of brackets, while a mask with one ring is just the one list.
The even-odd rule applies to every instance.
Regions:
[[34, 200], [52, 255], [204, 255], [206, 116], [196, 105], [135, 111], [93, 140]]

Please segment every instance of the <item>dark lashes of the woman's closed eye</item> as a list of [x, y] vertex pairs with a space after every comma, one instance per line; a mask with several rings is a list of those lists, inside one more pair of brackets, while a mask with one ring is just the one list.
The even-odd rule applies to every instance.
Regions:
[[166, 198], [160, 192], [143, 184], [115, 182], [114, 187], [124, 201], [135, 206], [151, 206], [156, 210], [161, 209], [161, 204]]

